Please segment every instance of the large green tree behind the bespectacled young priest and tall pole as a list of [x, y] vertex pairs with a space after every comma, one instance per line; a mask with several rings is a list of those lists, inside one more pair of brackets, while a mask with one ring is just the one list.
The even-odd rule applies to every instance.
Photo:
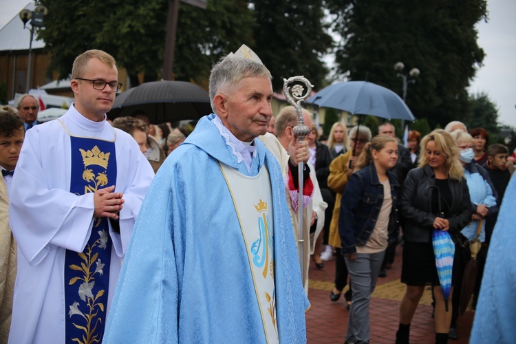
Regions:
[[[168, 0], [41, 0], [49, 9], [39, 37], [51, 54], [50, 71], [66, 77], [74, 58], [89, 49], [113, 55], [133, 85], [158, 80], [166, 35]], [[116, 9], [116, 10], [115, 10]], [[206, 80], [223, 53], [252, 41], [253, 18], [245, 0], [208, 1], [202, 10], [180, 3], [176, 34], [176, 80]]]

